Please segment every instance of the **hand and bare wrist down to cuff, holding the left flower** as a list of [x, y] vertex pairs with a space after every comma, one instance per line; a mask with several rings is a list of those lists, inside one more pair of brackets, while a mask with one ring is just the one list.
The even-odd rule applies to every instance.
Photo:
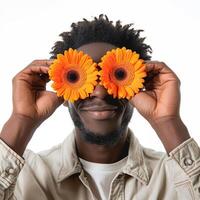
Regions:
[[46, 90], [52, 60], [36, 60], [13, 78], [13, 111], [5, 123], [0, 139], [22, 155], [38, 126], [47, 119], [63, 99]]

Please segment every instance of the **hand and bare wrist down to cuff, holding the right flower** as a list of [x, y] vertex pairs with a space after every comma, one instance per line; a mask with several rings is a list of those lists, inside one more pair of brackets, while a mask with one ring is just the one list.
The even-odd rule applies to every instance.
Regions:
[[190, 138], [180, 115], [180, 80], [163, 62], [147, 61], [145, 90], [130, 103], [151, 124], [169, 153]]

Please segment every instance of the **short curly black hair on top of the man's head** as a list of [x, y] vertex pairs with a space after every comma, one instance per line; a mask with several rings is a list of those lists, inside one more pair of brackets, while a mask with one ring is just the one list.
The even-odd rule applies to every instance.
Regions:
[[132, 28], [133, 24], [122, 26], [118, 20], [115, 25], [106, 15], [94, 17], [92, 21], [83, 18], [83, 21], [71, 24], [70, 32], [63, 32], [59, 36], [62, 41], [57, 41], [52, 47], [51, 59], [58, 53], [64, 53], [69, 48], [78, 48], [92, 42], [106, 42], [117, 47], [126, 47], [140, 54], [144, 60], [150, 60], [152, 49], [144, 43], [145, 37], [140, 37], [143, 30]]

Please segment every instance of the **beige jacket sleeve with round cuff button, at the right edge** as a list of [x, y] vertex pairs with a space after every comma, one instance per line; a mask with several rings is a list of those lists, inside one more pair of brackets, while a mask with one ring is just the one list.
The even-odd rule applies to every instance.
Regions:
[[195, 199], [200, 199], [200, 147], [193, 138], [183, 142], [169, 153], [188, 175]]

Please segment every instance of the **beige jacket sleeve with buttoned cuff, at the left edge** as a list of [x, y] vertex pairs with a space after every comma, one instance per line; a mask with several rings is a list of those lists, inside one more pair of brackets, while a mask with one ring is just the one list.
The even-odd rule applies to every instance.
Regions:
[[25, 160], [0, 139], [0, 200], [14, 199], [14, 189]]

